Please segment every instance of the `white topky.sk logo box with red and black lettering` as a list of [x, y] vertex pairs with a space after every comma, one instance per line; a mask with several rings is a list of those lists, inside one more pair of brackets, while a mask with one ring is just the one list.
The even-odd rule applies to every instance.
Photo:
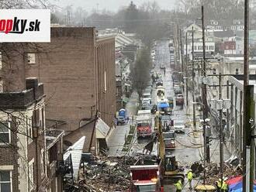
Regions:
[[3, 42], [50, 42], [50, 10], [0, 9]]

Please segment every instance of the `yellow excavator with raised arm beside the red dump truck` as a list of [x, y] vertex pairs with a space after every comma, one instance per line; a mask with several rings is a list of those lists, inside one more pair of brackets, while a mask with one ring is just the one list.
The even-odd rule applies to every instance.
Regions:
[[161, 125], [161, 116], [159, 111], [156, 112], [154, 118], [154, 130], [158, 132], [158, 157], [161, 159], [162, 177], [164, 180], [169, 180], [171, 183], [175, 183], [178, 180], [185, 179], [184, 173], [182, 173], [178, 167], [178, 162], [173, 155], [167, 155], [164, 148], [164, 136]]

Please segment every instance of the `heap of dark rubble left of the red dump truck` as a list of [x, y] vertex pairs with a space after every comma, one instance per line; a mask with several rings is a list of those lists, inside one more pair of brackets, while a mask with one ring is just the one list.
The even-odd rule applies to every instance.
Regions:
[[[89, 191], [126, 191], [130, 187], [130, 166], [140, 156], [100, 157], [81, 168], [80, 181]], [[85, 174], [83, 173], [85, 170]]]

